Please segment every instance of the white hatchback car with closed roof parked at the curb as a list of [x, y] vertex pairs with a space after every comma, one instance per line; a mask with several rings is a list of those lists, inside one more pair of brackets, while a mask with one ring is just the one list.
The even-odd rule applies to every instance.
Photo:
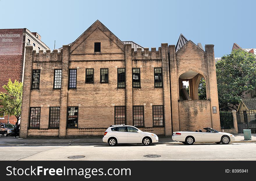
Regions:
[[103, 142], [115, 146], [117, 143], [150, 143], [158, 142], [158, 136], [153, 133], [143, 132], [134, 126], [111, 125], [105, 132]]

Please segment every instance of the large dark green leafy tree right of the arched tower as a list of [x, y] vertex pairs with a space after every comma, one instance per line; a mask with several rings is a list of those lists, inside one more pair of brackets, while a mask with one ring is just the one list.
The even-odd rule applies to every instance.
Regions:
[[240, 99], [249, 93], [255, 93], [256, 56], [235, 49], [216, 63], [216, 75], [221, 111], [227, 111], [230, 107], [237, 109]]

